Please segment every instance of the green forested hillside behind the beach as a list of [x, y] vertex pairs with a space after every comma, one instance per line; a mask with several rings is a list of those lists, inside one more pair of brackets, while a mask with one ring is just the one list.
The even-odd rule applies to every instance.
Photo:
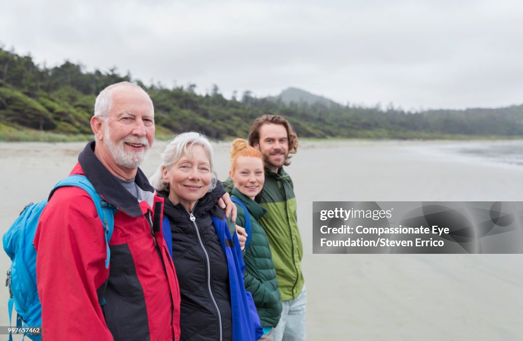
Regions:
[[280, 114], [300, 137], [369, 139], [475, 139], [523, 137], [523, 105], [498, 109], [427, 110], [408, 112], [392, 105], [383, 110], [355, 105], [283, 102], [254, 98], [227, 100], [214, 86], [201, 96], [195, 85], [168, 89], [144, 86], [116, 68], [85, 72], [66, 61], [60, 66], [38, 66], [30, 55], [20, 56], [0, 47], [0, 140], [69, 141], [90, 138], [89, 120], [97, 93], [118, 81], [135, 81], [151, 96], [156, 132], [170, 138], [198, 131], [213, 139], [246, 137], [253, 120], [266, 113]]

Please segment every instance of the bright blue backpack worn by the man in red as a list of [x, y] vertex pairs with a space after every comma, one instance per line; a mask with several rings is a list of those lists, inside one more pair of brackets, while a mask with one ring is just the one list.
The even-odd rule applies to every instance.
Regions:
[[[9, 287], [10, 294], [8, 303], [9, 324], [12, 321], [14, 304], [17, 312], [17, 327], [41, 327], [42, 325], [42, 305], [38, 298], [36, 286], [36, 250], [33, 240], [35, 239], [38, 220], [43, 208], [46, 207], [54, 191], [65, 186], [79, 187], [93, 199], [98, 217], [100, 217], [104, 225], [107, 245], [105, 266], [109, 268], [109, 241], [115, 225], [114, 214], [117, 209], [100, 197], [84, 175], [70, 175], [54, 185], [48, 199], [42, 200], [37, 204], [29, 203], [24, 207], [20, 216], [4, 234], [4, 250], [12, 261], [11, 267], [7, 271], [6, 280], [6, 286]], [[39, 333], [27, 333], [26, 335], [33, 340], [40, 341], [42, 339]], [[9, 335], [9, 340], [12, 339], [12, 335]]]

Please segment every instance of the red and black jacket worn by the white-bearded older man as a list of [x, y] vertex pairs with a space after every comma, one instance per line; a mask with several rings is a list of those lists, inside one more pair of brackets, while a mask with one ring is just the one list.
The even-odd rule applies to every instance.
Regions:
[[[143, 199], [138, 202], [93, 149], [94, 143], [86, 146], [71, 174], [85, 174], [118, 208], [109, 269], [92, 199], [76, 187], [58, 189], [43, 210], [35, 236], [43, 339], [178, 340], [178, 280], [161, 224], [154, 226], [153, 238], [154, 208], [163, 206], [163, 199], [138, 170], [135, 182]], [[104, 305], [99, 303], [102, 298]]]

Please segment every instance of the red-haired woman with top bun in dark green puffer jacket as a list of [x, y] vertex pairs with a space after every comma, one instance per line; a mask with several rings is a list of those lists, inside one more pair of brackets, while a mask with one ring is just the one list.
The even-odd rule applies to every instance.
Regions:
[[[231, 192], [236, 203], [236, 222], [244, 227], [250, 225], [249, 243], [243, 254], [245, 261], [245, 289], [251, 292], [264, 335], [260, 340], [274, 340], [273, 330], [281, 315], [280, 291], [276, 270], [272, 263], [269, 240], [259, 219], [267, 209], [254, 201], [265, 182], [265, 171], [261, 152], [237, 138], [231, 147], [231, 170], [229, 175], [234, 184]], [[250, 224], [247, 224], [247, 220]]]

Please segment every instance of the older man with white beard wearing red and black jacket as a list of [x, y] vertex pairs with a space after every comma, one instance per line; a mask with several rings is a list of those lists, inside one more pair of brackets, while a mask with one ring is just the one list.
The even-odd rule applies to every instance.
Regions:
[[35, 236], [44, 340], [178, 340], [180, 296], [162, 237], [163, 199], [138, 168], [154, 140], [147, 93], [123, 82], [100, 92], [83, 174], [117, 211], [109, 243], [90, 196], [56, 190]]

